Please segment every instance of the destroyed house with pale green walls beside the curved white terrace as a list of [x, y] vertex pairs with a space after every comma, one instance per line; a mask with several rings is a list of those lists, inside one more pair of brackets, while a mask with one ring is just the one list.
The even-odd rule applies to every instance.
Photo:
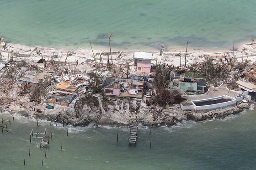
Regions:
[[170, 88], [180, 88], [185, 93], [196, 94], [197, 92], [204, 92], [206, 79], [171, 74]]

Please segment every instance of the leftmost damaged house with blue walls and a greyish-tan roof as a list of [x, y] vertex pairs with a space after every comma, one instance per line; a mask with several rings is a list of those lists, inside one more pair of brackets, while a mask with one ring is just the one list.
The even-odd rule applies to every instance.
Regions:
[[23, 87], [27, 86], [37, 88], [40, 81], [43, 81], [45, 77], [47, 77], [45, 73], [39, 73], [36, 76], [26, 74], [18, 79], [18, 83]]

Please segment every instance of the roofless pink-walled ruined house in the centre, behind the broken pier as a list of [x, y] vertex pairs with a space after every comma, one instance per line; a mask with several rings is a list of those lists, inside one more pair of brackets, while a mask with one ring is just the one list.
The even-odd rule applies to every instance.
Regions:
[[144, 81], [105, 77], [102, 88], [104, 89], [104, 94], [109, 97], [142, 98]]

